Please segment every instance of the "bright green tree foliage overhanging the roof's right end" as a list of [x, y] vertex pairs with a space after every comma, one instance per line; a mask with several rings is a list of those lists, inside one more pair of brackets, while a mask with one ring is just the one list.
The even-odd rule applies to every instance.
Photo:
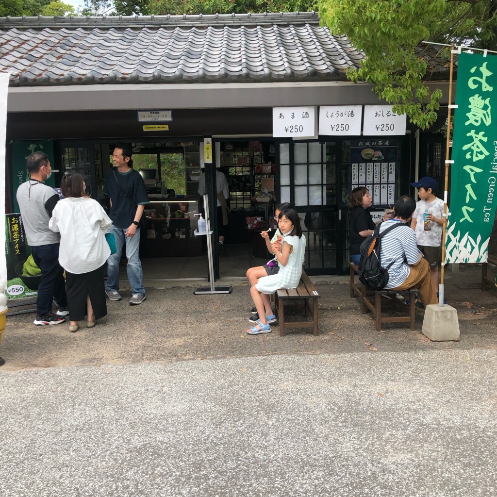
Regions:
[[495, 0], [319, 0], [322, 23], [366, 54], [347, 78], [374, 84], [380, 98], [423, 129], [435, 121], [442, 92], [428, 88], [425, 55], [433, 47], [421, 42], [496, 50], [496, 10]]

